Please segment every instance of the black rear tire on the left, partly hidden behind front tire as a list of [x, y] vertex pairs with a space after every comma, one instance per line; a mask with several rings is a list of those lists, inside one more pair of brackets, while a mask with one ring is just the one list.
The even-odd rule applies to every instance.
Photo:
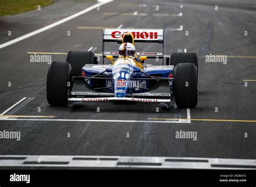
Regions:
[[82, 76], [82, 68], [85, 64], [97, 64], [95, 54], [91, 51], [70, 51], [66, 61], [71, 64], [72, 76]]

